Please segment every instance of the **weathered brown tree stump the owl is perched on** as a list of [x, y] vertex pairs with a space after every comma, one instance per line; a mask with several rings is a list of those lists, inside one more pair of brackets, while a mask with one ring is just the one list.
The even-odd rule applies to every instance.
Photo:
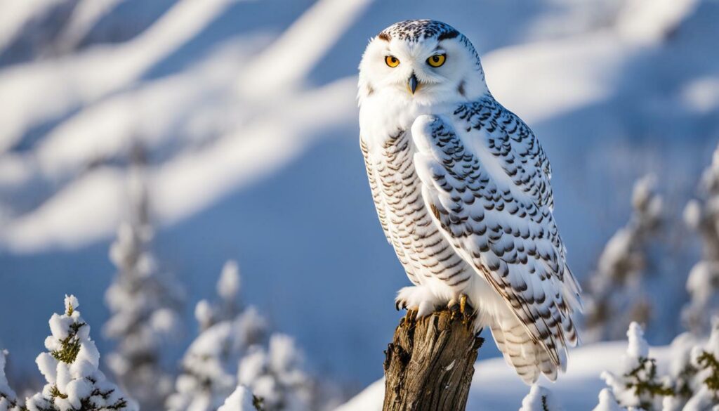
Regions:
[[384, 411], [461, 411], [484, 341], [470, 319], [449, 310], [400, 320], [385, 351]]

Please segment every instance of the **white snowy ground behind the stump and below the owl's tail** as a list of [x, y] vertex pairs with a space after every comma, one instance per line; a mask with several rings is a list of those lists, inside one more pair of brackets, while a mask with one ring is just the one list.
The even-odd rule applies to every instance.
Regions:
[[[559, 375], [555, 383], [542, 377], [539, 385], [549, 388], [564, 410], [592, 410], [599, 402], [599, 392], [606, 387], [600, 374], [607, 370], [620, 370], [626, 349], [626, 341], [596, 343], [574, 349], [569, 356], [567, 374]], [[649, 355], [659, 364], [667, 363], [669, 347], [652, 348]], [[529, 387], [505, 364], [503, 358], [477, 361], [467, 411], [518, 410], [528, 392]], [[385, 381], [380, 379], [335, 411], [379, 411], [382, 410], [384, 396]]]

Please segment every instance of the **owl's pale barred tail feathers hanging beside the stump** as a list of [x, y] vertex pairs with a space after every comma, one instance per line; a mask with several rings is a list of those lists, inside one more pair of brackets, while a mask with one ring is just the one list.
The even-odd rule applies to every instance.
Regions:
[[[539, 374], [544, 374], [551, 381], [557, 379], [560, 364], [551, 358], [549, 352], [540, 343], [532, 341], [519, 320], [506, 317], [500, 322], [495, 322], [490, 329], [497, 347], [504, 354], [505, 361], [513, 366], [526, 384], [535, 383], [539, 379]], [[563, 351], [562, 348], [560, 351]]]

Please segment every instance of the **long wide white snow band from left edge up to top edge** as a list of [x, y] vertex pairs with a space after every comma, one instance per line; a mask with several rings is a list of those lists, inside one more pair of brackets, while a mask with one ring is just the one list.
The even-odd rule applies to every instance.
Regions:
[[[95, 48], [77, 58], [15, 66], [0, 73], [0, 99], [14, 101], [0, 114], [0, 152], [23, 130], [62, 117], [80, 104], [127, 87], [152, 65], [221, 14], [236, 0], [179, 1], [142, 35], [118, 48]], [[42, 93], [35, 90], [42, 89]]]

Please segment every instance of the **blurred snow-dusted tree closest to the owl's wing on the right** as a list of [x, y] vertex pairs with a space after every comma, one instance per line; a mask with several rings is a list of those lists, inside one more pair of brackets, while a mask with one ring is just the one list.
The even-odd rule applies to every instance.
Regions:
[[654, 186], [653, 176], [636, 182], [631, 220], [610, 238], [600, 255], [587, 286], [583, 335], [587, 341], [620, 339], [630, 322], [649, 322], [652, 306], [644, 291], [645, 277], [651, 240], [664, 224], [662, 199]]

